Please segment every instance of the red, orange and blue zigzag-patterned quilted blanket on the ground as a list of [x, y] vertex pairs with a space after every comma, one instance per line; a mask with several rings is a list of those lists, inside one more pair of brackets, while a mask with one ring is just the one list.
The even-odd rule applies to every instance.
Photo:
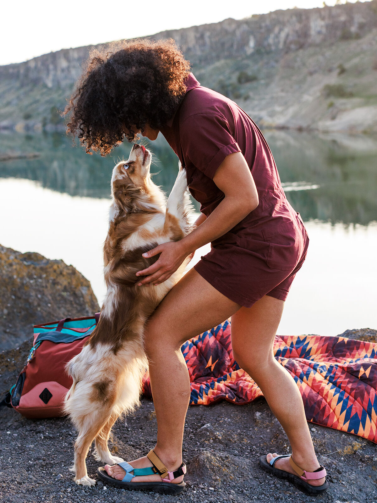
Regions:
[[[263, 396], [233, 358], [230, 322], [182, 346], [192, 405], [249, 403]], [[276, 336], [274, 355], [294, 378], [312, 423], [377, 443], [377, 344], [344, 337]], [[144, 394], [151, 398], [149, 378]]]

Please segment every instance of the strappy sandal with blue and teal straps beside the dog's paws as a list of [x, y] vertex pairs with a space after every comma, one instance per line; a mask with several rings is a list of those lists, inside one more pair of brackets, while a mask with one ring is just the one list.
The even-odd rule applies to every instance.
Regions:
[[[177, 470], [168, 471], [166, 466], [154, 453], [153, 449], [147, 454], [149, 461], [153, 463], [153, 466], [148, 466], [146, 468], [133, 468], [127, 461], [122, 461], [117, 463], [121, 468], [126, 471], [126, 475], [122, 480], [117, 480], [116, 478], [108, 475], [104, 467], [100, 467], [97, 470], [97, 474], [101, 480], [117, 487], [122, 487], [123, 489], [137, 490], [137, 491], [154, 491], [160, 494], [178, 494], [178, 492], [184, 489], [186, 485], [185, 482], [180, 482], [179, 484], [171, 483], [174, 478], [184, 475], [186, 473], [186, 465], [182, 463]], [[132, 473], [130, 472], [134, 472]], [[134, 477], [140, 475], [156, 475], [159, 474], [162, 478], [162, 482], [132, 482]]]

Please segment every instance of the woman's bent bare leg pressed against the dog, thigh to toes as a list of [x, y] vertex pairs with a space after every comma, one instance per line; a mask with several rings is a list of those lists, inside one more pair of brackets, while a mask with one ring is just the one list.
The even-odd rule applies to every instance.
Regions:
[[[169, 470], [182, 462], [184, 420], [190, 400], [190, 378], [181, 345], [234, 314], [240, 306], [218, 292], [191, 269], [163, 299], [145, 330], [145, 348], [157, 417], [157, 456]], [[152, 466], [147, 457], [131, 461], [134, 468]], [[106, 465], [109, 475], [122, 479], [124, 470]], [[159, 475], [133, 482], [160, 481]], [[174, 482], [179, 483], [182, 477]]]

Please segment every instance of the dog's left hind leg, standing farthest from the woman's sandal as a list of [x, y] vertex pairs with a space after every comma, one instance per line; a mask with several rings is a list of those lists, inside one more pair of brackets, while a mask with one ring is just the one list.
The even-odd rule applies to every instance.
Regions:
[[86, 415], [79, 425], [79, 435], [74, 444], [74, 480], [76, 484], [95, 485], [96, 480], [89, 478], [86, 471], [85, 458], [92, 441], [97, 437], [103, 427], [108, 423], [111, 409], [108, 411], [97, 410]]

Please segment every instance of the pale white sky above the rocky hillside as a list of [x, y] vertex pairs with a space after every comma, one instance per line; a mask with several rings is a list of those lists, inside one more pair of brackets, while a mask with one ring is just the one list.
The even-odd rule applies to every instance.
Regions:
[[[355, 0], [351, 0], [355, 2]], [[326, 0], [334, 5], [336, 0]], [[345, 3], [345, 0], [337, 0]], [[323, 0], [18, 0], [1, 9], [0, 65], [69, 47], [99, 44], [160, 31], [242, 19], [279, 9], [322, 7]]]

